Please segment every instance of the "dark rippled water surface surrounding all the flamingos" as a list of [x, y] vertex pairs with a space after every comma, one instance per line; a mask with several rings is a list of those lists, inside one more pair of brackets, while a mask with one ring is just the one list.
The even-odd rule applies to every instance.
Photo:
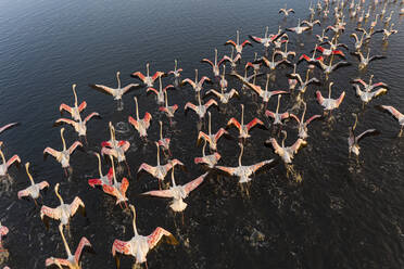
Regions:
[[[144, 89], [124, 95], [124, 107], [117, 111], [112, 97], [88, 87], [88, 84], [116, 85], [115, 73], [122, 74], [123, 85], [134, 82], [129, 74], [144, 72], [150, 62], [151, 72], [167, 72], [174, 68], [174, 59], [184, 68], [182, 78], [212, 77], [209, 65], [200, 63], [202, 57], [212, 59], [214, 48], [219, 57], [230, 53], [223, 46], [235, 39], [241, 30], [247, 35], [262, 36], [265, 26], [276, 33], [278, 25], [293, 27], [298, 18], [308, 17], [308, 1], [287, 1], [288, 8], [296, 13], [287, 20], [278, 14], [285, 1], [2, 1], [0, 2], [0, 123], [18, 121], [21, 126], [1, 133], [7, 157], [18, 154], [22, 162], [30, 162], [36, 181], [48, 180], [50, 190], [43, 195], [43, 204], [55, 207], [59, 202], [53, 187], [61, 183], [61, 194], [70, 203], [79, 196], [86, 204], [87, 218], [77, 214], [66, 233], [72, 249], [79, 239], [87, 236], [96, 255], [85, 253], [84, 268], [113, 268], [111, 255], [114, 239], [129, 240], [132, 236], [131, 216], [115, 205], [115, 200], [100, 190], [93, 190], [87, 180], [98, 177], [97, 158], [91, 152], [100, 151], [101, 141], [108, 140], [108, 123], [117, 129], [119, 139], [128, 140], [131, 146], [126, 154], [131, 175], [142, 162], [154, 165], [155, 146], [159, 138], [157, 120], [164, 121], [164, 133], [172, 138], [174, 157], [185, 163], [187, 170], [176, 170], [178, 183], [185, 183], [203, 174], [193, 164], [193, 157], [201, 155], [197, 148], [198, 117], [193, 112], [184, 114], [186, 102], [194, 102], [194, 93], [187, 86], [169, 91], [169, 103], [177, 103], [173, 127], [157, 112], [154, 97]], [[378, 5], [374, 12], [379, 12]], [[390, 10], [400, 10], [399, 3], [389, 3]], [[367, 11], [367, 8], [365, 9]], [[374, 13], [373, 13], [374, 14]], [[137, 208], [137, 223], [141, 234], [149, 234], [161, 226], [179, 240], [178, 246], [162, 244], [148, 255], [149, 268], [403, 268], [404, 195], [403, 156], [404, 142], [397, 138], [399, 125], [388, 115], [374, 108], [377, 104], [389, 104], [403, 111], [401, 75], [404, 55], [402, 18], [397, 12], [392, 22], [399, 34], [382, 44], [381, 35], [370, 41], [371, 54], [381, 53], [386, 60], [375, 61], [364, 71], [357, 71], [357, 60], [346, 59], [352, 66], [331, 74], [334, 81], [333, 95], [346, 91], [341, 107], [332, 113], [334, 121], [320, 120], [310, 128], [308, 145], [301, 150], [293, 161], [293, 174], [287, 172], [280, 162], [253, 178], [248, 193], [237, 184], [235, 178], [212, 174], [205, 182], [187, 198], [185, 223], [180, 215], [174, 215], [167, 200], [142, 197], [139, 194], [157, 188], [157, 181], [150, 176], [132, 176], [128, 189], [129, 202]], [[332, 20], [321, 21], [321, 27]], [[379, 24], [379, 26], [381, 26]], [[314, 48], [316, 34], [296, 37], [289, 34], [298, 55]], [[349, 34], [354, 24], [348, 21], [345, 34], [340, 41], [353, 48]], [[368, 28], [366, 25], [365, 28]], [[378, 28], [378, 27], [377, 27]], [[304, 46], [301, 46], [304, 43]], [[260, 44], [247, 47], [245, 60], [253, 53], [263, 53]], [[242, 67], [239, 66], [241, 73]], [[300, 74], [306, 64], [298, 67]], [[227, 68], [229, 69], [229, 68]], [[279, 67], [272, 89], [287, 89], [286, 74], [290, 67]], [[321, 113], [314, 92], [327, 92], [328, 82], [318, 72], [321, 86], [312, 86], [305, 93], [307, 116]], [[355, 77], [389, 84], [387, 95], [374, 100], [365, 108], [355, 97], [350, 79]], [[228, 77], [229, 88], [240, 89], [240, 82]], [[169, 78], [163, 79], [164, 85]], [[257, 80], [265, 85], [265, 79]], [[88, 145], [74, 153], [71, 165], [73, 175], [64, 177], [60, 165], [49, 157], [42, 158], [46, 146], [61, 148], [60, 129], [52, 127], [59, 118], [60, 103], [73, 104], [71, 86], [77, 84], [78, 100], [86, 100], [84, 115], [97, 111], [102, 119], [88, 124]], [[209, 88], [207, 88], [209, 89]], [[140, 102], [140, 115], [146, 111], [153, 116], [149, 129], [149, 143], [139, 139], [127, 117], [135, 115], [134, 95]], [[275, 110], [277, 98], [269, 101]], [[252, 91], [245, 90], [241, 99], [233, 99], [220, 110], [211, 110], [213, 130], [224, 127], [230, 117], [240, 118], [240, 103], [245, 104], [245, 120], [253, 117], [269, 121], [264, 108]], [[289, 97], [282, 98], [282, 110], [291, 107]], [[357, 131], [377, 128], [381, 136], [362, 141], [358, 159], [349, 158], [348, 128], [354, 121], [352, 113], [359, 114]], [[299, 113], [301, 115], [301, 112]], [[206, 131], [207, 121], [202, 126]], [[294, 123], [289, 121], [287, 144], [296, 137]], [[239, 148], [235, 129], [229, 130], [233, 139], [222, 139], [218, 152], [220, 165], [236, 166]], [[243, 164], [275, 157], [264, 141], [278, 132], [254, 129], [247, 141]], [[70, 145], [77, 134], [66, 126], [65, 138]], [[280, 138], [278, 138], [278, 141]], [[165, 161], [164, 161], [165, 162]], [[103, 159], [103, 171], [108, 165]], [[51, 221], [49, 231], [39, 218], [39, 210], [30, 201], [18, 201], [16, 193], [28, 185], [25, 169], [11, 168], [10, 179], [1, 179], [0, 220], [9, 227], [10, 233], [4, 246], [10, 258], [4, 265], [11, 268], [43, 268], [50, 256], [65, 257], [56, 222]], [[119, 180], [126, 172], [119, 175]], [[302, 183], [294, 179], [302, 178]], [[122, 257], [122, 268], [129, 268], [132, 259]]]

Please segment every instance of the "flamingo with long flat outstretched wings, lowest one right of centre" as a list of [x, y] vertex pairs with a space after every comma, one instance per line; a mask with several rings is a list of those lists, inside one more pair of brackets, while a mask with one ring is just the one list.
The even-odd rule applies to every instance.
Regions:
[[227, 172], [230, 176], [238, 177], [239, 183], [247, 183], [252, 180], [251, 176], [255, 174], [256, 170], [258, 170], [265, 165], [273, 163], [274, 159], [272, 158], [272, 159], [263, 161], [263, 162], [256, 163], [254, 165], [249, 165], [249, 166], [242, 165], [241, 158], [242, 158], [244, 146], [242, 145], [242, 143], [239, 143], [239, 145], [240, 145], [239, 166], [237, 167], [216, 166], [216, 168], [222, 171]]

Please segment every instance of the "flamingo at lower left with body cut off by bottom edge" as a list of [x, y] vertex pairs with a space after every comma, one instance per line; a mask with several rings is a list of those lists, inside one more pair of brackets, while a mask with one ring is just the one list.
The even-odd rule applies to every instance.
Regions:
[[59, 268], [67, 267], [70, 269], [81, 269], [81, 262], [80, 262], [81, 252], [86, 246], [92, 247], [90, 241], [88, 241], [88, 239], [83, 236], [80, 242], [78, 243], [75, 254], [73, 255], [66, 242], [66, 239], [64, 238], [62, 226], [59, 226], [59, 231], [62, 235], [64, 248], [66, 249], [66, 253], [67, 253], [67, 258], [61, 259], [61, 258], [50, 257], [50, 258], [47, 258], [47, 260], [45, 261], [45, 266], [46, 267], [56, 266]]

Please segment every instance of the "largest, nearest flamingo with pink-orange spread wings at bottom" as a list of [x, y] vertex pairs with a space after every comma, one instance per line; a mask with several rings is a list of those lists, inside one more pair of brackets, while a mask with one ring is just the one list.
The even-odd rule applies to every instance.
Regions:
[[[173, 245], [178, 244], [174, 235], [161, 227], [155, 228], [155, 230], [150, 235], [147, 236], [140, 235], [136, 228], [135, 206], [129, 205], [129, 207], [134, 214], [132, 226], [135, 236], [131, 238], [129, 241], [121, 241], [116, 239], [112, 245], [112, 256], [115, 257], [116, 253], [130, 255], [135, 257], [136, 265], [139, 265], [147, 262], [146, 256], [148, 255], [149, 251], [156, 246], [159, 242], [163, 239], [163, 236], [165, 236], [165, 242]], [[119, 259], [115, 257], [115, 260], [116, 268], [119, 269]]]

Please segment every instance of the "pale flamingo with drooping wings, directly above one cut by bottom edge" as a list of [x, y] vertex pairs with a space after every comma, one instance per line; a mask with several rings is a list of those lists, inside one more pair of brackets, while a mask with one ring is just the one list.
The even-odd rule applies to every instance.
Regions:
[[49, 227], [48, 218], [60, 220], [60, 226], [67, 226], [70, 219], [76, 214], [78, 209], [80, 209], [83, 216], [86, 216], [85, 204], [78, 196], [73, 200], [72, 204], [65, 204], [62, 196], [59, 194], [59, 183], [56, 183], [56, 185], [54, 187], [54, 193], [61, 202], [61, 205], [55, 208], [42, 205], [42, 207], [40, 208], [40, 219], [47, 227]]

